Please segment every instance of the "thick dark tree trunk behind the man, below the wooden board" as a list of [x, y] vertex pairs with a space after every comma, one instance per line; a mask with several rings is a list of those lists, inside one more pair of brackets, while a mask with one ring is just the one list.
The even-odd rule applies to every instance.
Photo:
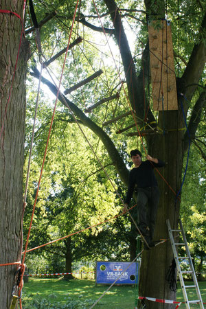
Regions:
[[[148, 141], [148, 152], [154, 157], [160, 157], [165, 161], [166, 166], [160, 170], [163, 177], [168, 181], [174, 192], [179, 192], [181, 187], [181, 171], [183, 164], [183, 116], [180, 111], [167, 111], [164, 116], [165, 129], [168, 133], [152, 137]], [[162, 124], [160, 124], [161, 126]], [[162, 126], [161, 126], [162, 127]], [[157, 174], [161, 198], [157, 214], [154, 240], [168, 238], [168, 227], [166, 220], [174, 229], [178, 227], [179, 219], [179, 198], [165, 181]], [[175, 293], [169, 288], [166, 275], [173, 259], [170, 240], [144, 251], [141, 260], [139, 277], [139, 296], [155, 297], [160, 299], [175, 299]], [[163, 304], [150, 301], [150, 308], [163, 308]], [[174, 305], [167, 305], [167, 308], [174, 308]]]

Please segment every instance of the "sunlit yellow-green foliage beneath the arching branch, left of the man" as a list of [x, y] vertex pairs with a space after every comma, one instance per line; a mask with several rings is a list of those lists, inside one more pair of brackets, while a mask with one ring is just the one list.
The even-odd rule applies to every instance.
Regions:
[[[31, 129], [30, 124], [32, 122], [30, 117], [34, 113], [32, 102], [34, 102], [34, 93], [33, 88], [30, 87], [27, 101], [28, 130]], [[48, 98], [42, 95], [38, 106], [38, 125], [32, 151], [30, 182], [24, 218], [25, 235], [29, 227], [36, 195], [39, 171], [41, 170], [49, 130], [49, 121], [47, 122], [47, 119], [49, 120], [50, 116], [51, 111]], [[83, 128], [83, 130], [93, 145], [93, 148], [95, 148], [95, 152], [100, 158], [100, 161], [102, 161], [102, 164], [105, 166], [108, 165], [106, 168], [107, 172], [111, 178], [115, 179], [115, 170], [105, 153], [102, 143], [87, 128]], [[27, 144], [29, 144], [29, 138]], [[122, 190], [120, 183], [118, 186]], [[69, 124], [67, 115], [65, 116], [65, 111], [62, 113], [60, 108], [60, 111], [56, 113], [52, 134], [49, 139], [43, 177], [41, 179], [41, 186], [34, 212], [29, 248], [97, 225], [99, 222], [104, 222], [104, 220], [118, 214], [119, 209], [122, 208], [119, 207], [119, 200], [114, 192], [113, 186], [101, 170], [97, 159], [94, 157], [93, 152], [84, 140], [84, 137], [82, 137], [76, 124]], [[103, 252], [106, 253], [108, 258], [110, 256], [115, 258], [113, 252], [115, 252], [115, 248], [117, 247], [119, 249], [125, 247], [118, 243], [119, 241], [122, 243], [124, 240], [118, 238], [118, 240], [113, 241], [113, 234], [114, 239], [117, 239], [117, 231], [113, 232], [113, 227], [110, 223], [106, 227], [106, 232], [103, 232], [104, 229], [105, 226], [103, 228], [102, 225], [97, 225], [90, 230], [84, 231], [84, 233], [72, 236], [72, 259], [80, 260], [84, 256], [87, 256], [88, 259], [91, 256], [94, 258], [94, 251], [91, 250], [91, 247], [93, 247], [92, 241], [95, 242], [95, 238], [98, 237], [99, 233], [102, 233], [102, 236], [104, 235], [104, 241], [102, 243], [97, 242], [96, 247], [99, 246], [101, 249], [96, 249], [95, 259], [98, 256], [104, 258]], [[100, 236], [100, 239], [102, 236]], [[49, 265], [49, 268], [52, 268], [52, 272], [65, 271], [62, 263], [67, 256], [67, 245], [67, 241], [60, 241], [44, 249], [38, 249], [30, 253], [30, 255], [38, 255], [41, 252], [43, 258], [46, 259], [45, 263], [42, 262], [44, 269]], [[112, 247], [113, 249], [111, 250]], [[35, 271], [35, 267], [31, 267], [30, 259], [28, 260], [28, 264], [30, 266], [30, 273]], [[43, 272], [47, 271], [44, 270]]]

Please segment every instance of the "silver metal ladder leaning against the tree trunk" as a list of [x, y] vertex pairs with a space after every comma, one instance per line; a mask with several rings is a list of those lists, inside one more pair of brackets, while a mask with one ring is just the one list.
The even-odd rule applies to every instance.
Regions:
[[[185, 306], [186, 306], [187, 309], [190, 309], [190, 304], [199, 303], [200, 308], [204, 309], [203, 299], [201, 297], [201, 292], [200, 292], [200, 289], [198, 287], [198, 282], [197, 282], [197, 279], [196, 279], [196, 274], [195, 274], [195, 271], [194, 271], [194, 266], [192, 264], [192, 258], [191, 258], [191, 255], [190, 255], [190, 250], [189, 250], [188, 245], [187, 245], [187, 239], [185, 237], [185, 232], [183, 230], [182, 222], [181, 222], [181, 220], [179, 220], [180, 229], [171, 229], [170, 220], [167, 220], [167, 225], [168, 225], [168, 232], [169, 232], [169, 236], [170, 236], [170, 241], [171, 241], [171, 244], [172, 244], [172, 251], [173, 251], [174, 259], [175, 259], [175, 262], [176, 262], [176, 268], [177, 268], [178, 273], [179, 273], [179, 280], [181, 282], [181, 288], [183, 290], [183, 297], [185, 299]], [[183, 242], [175, 242], [174, 236], [173, 236], [174, 232], [182, 234], [181, 236], [183, 238]], [[185, 257], [181, 257], [181, 256], [178, 255], [178, 251], [176, 250], [176, 246], [182, 246], [182, 247], [184, 246], [185, 247], [185, 251], [186, 251]], [[183, 260], [187, 260], [187, 262], [190, 266], [190, 271], [182, 271], [181, 261], [183, 261]], [[191, 273], [192, 274], [192, 279], [193, 279], [194, 285], [185, 286], [185, 282], [184, 282], [184, 279], [183, 279], [183, 273]], [[198, 297], [197, 300], [189, 300], [188, 299], [187, 289], [190, 289], [190, 288], [196, 289], [196, 295]]]

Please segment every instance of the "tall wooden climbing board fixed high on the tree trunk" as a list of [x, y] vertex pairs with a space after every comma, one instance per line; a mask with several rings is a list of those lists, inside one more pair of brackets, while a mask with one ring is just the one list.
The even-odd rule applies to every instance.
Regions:
[[178, 109], [171, 25], [168, 21], [148, 24], [152, 99], [155, 111]]

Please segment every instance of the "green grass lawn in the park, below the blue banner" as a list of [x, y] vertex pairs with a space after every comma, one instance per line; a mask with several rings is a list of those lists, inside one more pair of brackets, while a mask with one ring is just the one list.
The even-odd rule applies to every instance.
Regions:
[[[188, 282], [188, 284], [190, 283]], [[203, 301], [206, 301], [206, 282], [200, 282], [199, 287]], [[95, 280], [92, 279], [73, 279], [67, 282], [61, 278], [30, 278], [23, 287], [23, 308], [90, 308], [93, 301], [96, 301], [107, 288], [108, 286], [95, 286]], [[135, 286], [113, 286], [100, 299], [95, 308], [135, 308], [135, 294], [137, 294]], [[193, 299], [196, 299], [196, 294]], [[180, 286], [177, 300], [183, 301]], [[180, 308], [185, 308], [185, 305], [181, 304]], [[199, 308], [199, 306], [192, 305], [191, 308]]]

